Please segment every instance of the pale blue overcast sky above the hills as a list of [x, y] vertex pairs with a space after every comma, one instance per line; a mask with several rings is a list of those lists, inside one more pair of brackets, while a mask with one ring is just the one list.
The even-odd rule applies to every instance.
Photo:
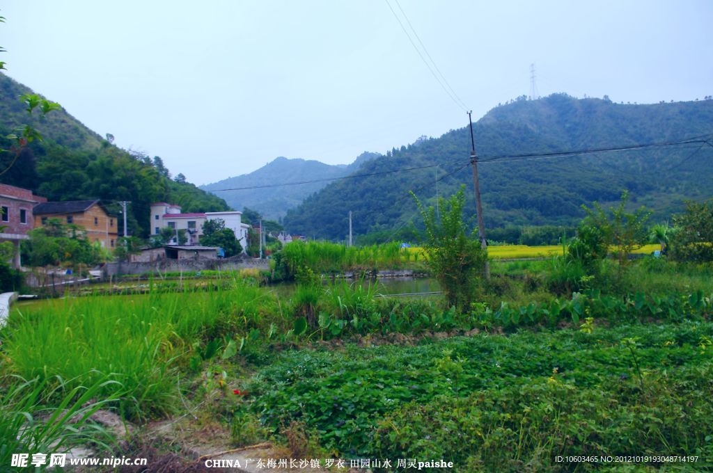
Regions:
[[438, 137], [530, 95], [533, 63], [540, 96], [713, 95], [709, 0], [6, 0], [0, 16], [11, 78], [195, 184]]

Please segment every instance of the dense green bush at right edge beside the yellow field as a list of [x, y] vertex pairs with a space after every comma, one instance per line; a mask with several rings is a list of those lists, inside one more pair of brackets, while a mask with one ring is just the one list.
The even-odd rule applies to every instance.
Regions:
[[713, 261], [713, 201], [688, 202], [674, 217], [671, 255], [681, 261]]

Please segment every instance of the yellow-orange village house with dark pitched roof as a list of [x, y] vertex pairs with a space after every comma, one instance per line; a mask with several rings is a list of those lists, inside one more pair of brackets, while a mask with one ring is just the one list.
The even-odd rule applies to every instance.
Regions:
[[99, 241], [104, 248], [116, 247], [118, 239], [116, 217], [109, 214], [99, 200], [43, 202], [36, 205], [32, 212], [35, 227], [46, 224], [48, 219], [60, 219], [63, 224], [81, 227], [92, 243]]

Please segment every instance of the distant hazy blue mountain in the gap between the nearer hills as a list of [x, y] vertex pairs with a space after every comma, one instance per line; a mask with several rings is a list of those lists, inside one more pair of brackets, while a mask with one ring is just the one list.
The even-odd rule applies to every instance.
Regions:
[[[364, 152], [356, 157], [352, 164], [336, 166], [314, 160], [277, 157], [250, 174], [228, 177], [200, 188], [222, 197], [234, 209], [249, 207], [260, 212], [267, 219], [279, 220], [284, 217], [288, 209], [297, 207], [309, 195], [329, 184], [326, 180], [352, 174], [364, 162], [379, 156], [376, 153]], [[289, 182], [307, 183], [275, 187], [275, 184]], [[251, 189], [240, 189], [242, 187], [251, 187]], [[239, 190], [220, 190], [236, 188]]]

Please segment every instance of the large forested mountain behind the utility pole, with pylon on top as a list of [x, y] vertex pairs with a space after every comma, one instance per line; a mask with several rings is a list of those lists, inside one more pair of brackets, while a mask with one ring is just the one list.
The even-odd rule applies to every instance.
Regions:
[[[595, 98], [554, 94], [520, 99], [487, 113], [475, 128], [481, 160], [483, 216], [486, 227], [572, 224], [582, 204], [615, 202], [628, 189], [632, 205], [645, 204], [655, 219], [682, 209], [684, 199], [713, 194], [713, 148], [707, 145], [654, 147], [626, 152], [536, 160], [493, 160], [503, 155], [555, 152], [665, 142], [713, 133], [713, 100], [630, 105]], [[438, 168], [359, 177], [329, 184], [284, 217], [290, 231], [344, 239], [347, 214], [354, 232], [390, 232], [419, 222], [409, 190], [434, 202], [436, 175], [441, 196], [468, 187], [474, 214], [473, 179], [467, 165], [471, 149], [467, 128], [419, 140], [366, 162], [359, 174], [438, 164]], [[462, 169], [461, 169], [462, 167]], [[458, 170], [460, 169], [460, 170]]]

